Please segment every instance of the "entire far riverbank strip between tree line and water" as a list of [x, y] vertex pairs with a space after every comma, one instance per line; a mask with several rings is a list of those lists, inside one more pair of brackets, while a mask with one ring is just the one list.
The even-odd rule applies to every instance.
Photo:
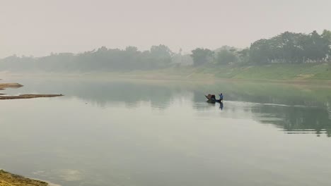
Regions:
[[156, 70], [72, 71], [72, 72], [0, 72], [1, 77], [72, 77], [93, 80], [185, 80], [256, 81], [289, 84], [331, 85], [330, 63], [269, 64], [260, 66], [181, 66]]

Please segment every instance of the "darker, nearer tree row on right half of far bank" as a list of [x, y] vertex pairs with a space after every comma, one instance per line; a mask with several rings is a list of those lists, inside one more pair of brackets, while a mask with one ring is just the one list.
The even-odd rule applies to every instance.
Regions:
[[303, 33], [284, 32], [270, 39], [253, 42], [247, 49], [223, 46], [211, 51], [194, 49], [191, 54], [194, 65], [214, 64], [266, 64], [266, 63], [318, 63], [331, 61], [331, 31], [320, 35], [313, 31]]

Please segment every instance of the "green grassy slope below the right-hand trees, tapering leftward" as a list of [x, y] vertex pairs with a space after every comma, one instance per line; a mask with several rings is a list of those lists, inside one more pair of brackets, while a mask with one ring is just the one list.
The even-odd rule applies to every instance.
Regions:
[[122, 75], [146, 78], [240, 79], [240, 80], [331, 80], [331, 64], [272, 64], [263, 66], [200, 66], [134, 71]]

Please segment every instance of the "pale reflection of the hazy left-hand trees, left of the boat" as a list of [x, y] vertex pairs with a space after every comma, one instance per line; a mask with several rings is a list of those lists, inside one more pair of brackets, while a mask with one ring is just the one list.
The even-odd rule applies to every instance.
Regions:
[[[61, 90], [66, 97], [77, 97], [86, 102], [105, 106], [109, 103], [124, 103], [127, 106], [137, 106], [141, 101], [148, 101], [152, 107], [167, 108], [170, 101], [185, 95], [185, 89], [180, 87], [165, 87], [164, 85], [134, 82], [112, 81], [52, 81], [35, 85], [42, 87], [42, 92], [58, 92]], [[66, 98], [64, 97], [64, 98]]]

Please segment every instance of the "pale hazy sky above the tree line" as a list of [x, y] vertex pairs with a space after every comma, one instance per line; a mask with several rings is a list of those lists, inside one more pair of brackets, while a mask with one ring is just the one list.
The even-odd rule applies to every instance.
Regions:
[[250, 46], [286, 30], [331, 30], [331, 0], [0, 0], [0, 58], [107, 46]]

